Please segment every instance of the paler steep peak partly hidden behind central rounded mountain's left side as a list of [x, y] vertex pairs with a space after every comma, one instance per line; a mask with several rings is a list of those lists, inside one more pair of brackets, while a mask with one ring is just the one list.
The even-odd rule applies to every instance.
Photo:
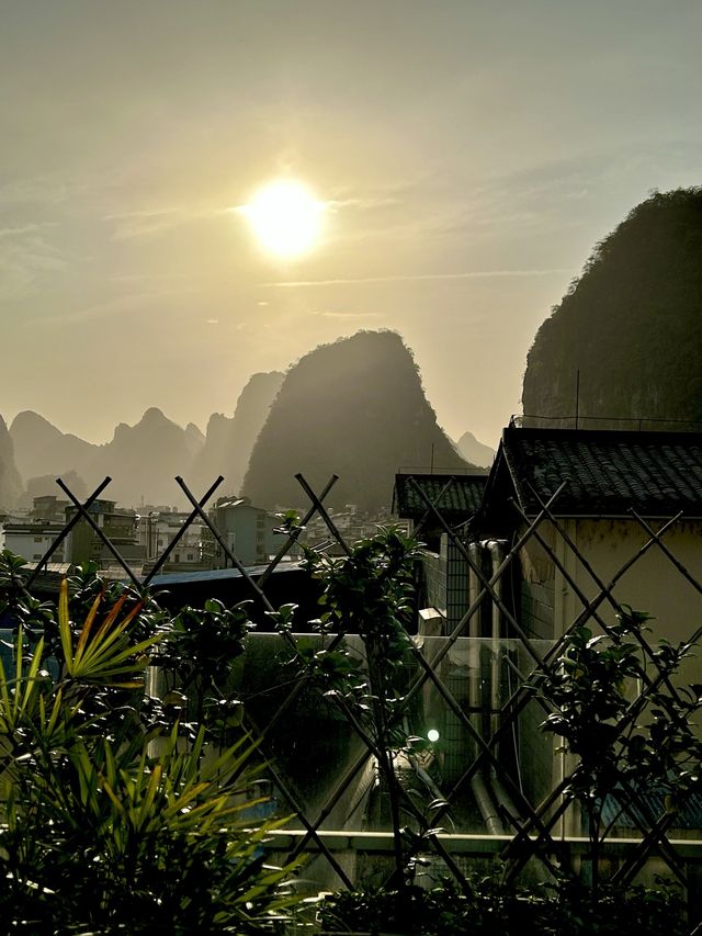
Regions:
[[233, 418], [222, 413], [210, 417], [204, 446], [191, 471], [200, 492], [206, 490], [222, 474], [222, 489], [229, 494], [239, 493], [253, 443], [281, 388], [283, 376], [280, 371], [253, 374], [239, 395]]

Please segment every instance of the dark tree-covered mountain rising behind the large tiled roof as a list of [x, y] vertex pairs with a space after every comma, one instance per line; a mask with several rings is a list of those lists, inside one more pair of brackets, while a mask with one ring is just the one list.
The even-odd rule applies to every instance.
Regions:
[[702, 189], [656, 193], [597, 245], [539, 329], [523, 411], [702, 422], [701, 360]]

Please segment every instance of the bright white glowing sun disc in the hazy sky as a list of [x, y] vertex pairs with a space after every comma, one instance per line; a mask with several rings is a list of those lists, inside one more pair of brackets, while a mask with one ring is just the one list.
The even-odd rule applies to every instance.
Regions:
[[319, 244], [326, 210], [307, 185], [292, 179], [269, 182], [239, 208], [263, 250], [281, 260], [302, 257]]

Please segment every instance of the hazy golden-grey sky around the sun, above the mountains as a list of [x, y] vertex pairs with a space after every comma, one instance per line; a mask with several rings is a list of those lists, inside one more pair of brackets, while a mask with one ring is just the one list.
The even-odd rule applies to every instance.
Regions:
[[[700, 36], [699, 0], [0, 0], [0, 415], [204, 429], [390, 328], [495, 447], [593, 246], [702, 183]], [[325, 205], [294, 260], [231, 211], [279, 178]]]

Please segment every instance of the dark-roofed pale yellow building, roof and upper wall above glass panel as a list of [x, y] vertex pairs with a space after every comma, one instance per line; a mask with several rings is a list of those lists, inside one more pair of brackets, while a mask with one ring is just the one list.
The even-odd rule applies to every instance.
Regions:
[[[671, 555], [702, 580], [702, 433], [511, 426], [487, 482], [476, 522], [483, 540], [513, 542], [554, 495], [519, 551], [513, 576], [524, 630], [557, 638], [602, 584], [618, 576], [616, 601], [647, 611], [658, 635], [686, 640], [702, 596]], [[624, 564], [673, 517], [665, 549], [654, 544]], [[643, 522], [642, 522], [643, 521]], [[551, 551], [551, 552], [550, 552]], [[610, 602], [602, 616], [614, 622]]]

